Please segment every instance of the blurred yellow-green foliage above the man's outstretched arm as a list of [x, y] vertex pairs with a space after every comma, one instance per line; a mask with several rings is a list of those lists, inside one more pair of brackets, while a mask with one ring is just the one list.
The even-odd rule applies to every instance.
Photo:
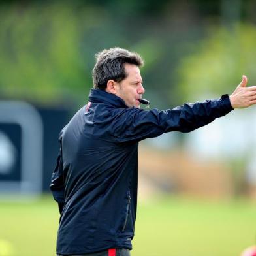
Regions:
[[236, 24], [232, 30], [212, 28], [208, 37], [189, 45], [193, 54], [184, 57], [178, 66], [180, 82], [176, 90], [181, 92], [182, 100], [232, 93], [242, 74], [248, 76], [249, 84], [255, 83], [255, 40], [254, 25]]

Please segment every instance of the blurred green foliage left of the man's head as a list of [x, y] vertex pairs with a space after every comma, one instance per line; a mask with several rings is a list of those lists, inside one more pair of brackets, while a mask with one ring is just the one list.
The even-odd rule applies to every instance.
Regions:
[[57, 103], [61, 94], [84, 88], [79, 20], [71, 7], [19, 5], [1, 8], [0, 16], [1, 94]]

